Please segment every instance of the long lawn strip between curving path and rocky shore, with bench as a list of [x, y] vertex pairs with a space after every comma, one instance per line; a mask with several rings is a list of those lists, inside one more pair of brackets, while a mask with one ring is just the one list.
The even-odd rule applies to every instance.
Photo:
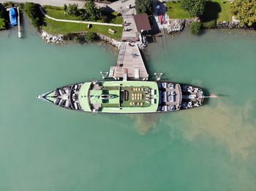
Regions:
[[[58, 22], [55, 20], [50, 20], [45, 17], [46, 26], [42, 26], [44, 31], [47, 31], [49, 34], [68, 34], [75, 32], [83, 32], [83, 31], [91, 31], [94, 33], [104, 34], [105, 36], [109, 36], [112, 39], [120, 40], [121, 34], [123, 31], [122, 27], [118, 26], [98, 26], [93, 25], [91, 28], [87, 28], [87, 24], [82, 23], [64, 23]], [[108, 28], [111, 28], [116, 31], [115, 34], [109, 34]]]

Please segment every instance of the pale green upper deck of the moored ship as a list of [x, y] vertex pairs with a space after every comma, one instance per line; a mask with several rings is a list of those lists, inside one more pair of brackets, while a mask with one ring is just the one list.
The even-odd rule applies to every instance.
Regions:
[[[148, 113], [148, 112], [157, 112], [157, 108], [159, 105], [159, 91], [157, 82], [144, 82], [144, 81], [110, 81], [110, 82], [102, 82], [103, 88], [102, 90], [91, 90], [90, 99], [91, 104], [102, 104], [102, 109], [99, 112], [106, 113]], [[80, 106], [86, 112], [91, 112], [88, 100], [88, 91], [91, 82], [84, 83], [82, 87], [80, 87], [78, 100], [80, 102]], [[131, 91], [132, 87], [149, 87], [149, 89], [154, 90], [154, 101], [149, 101], [145, 103], [145, 93], [143, 91]], [[143, 94], [143, 99], [132, 100], [132, 95], [129, 95], [129, 100], [124, 101], [124, 103], [120, 106], [120, 88], [121, 90], [129, 89], [129, 93], [141, 93]], [[108, 94], [116, 95], [116, 98], [111, 98], [108, 100], [108, 103], [105, 103], [104, 100], [99, 98], [102, 95], [102, 92], [108, 90]], [[143, 102], [143, 105], [130, 105], [130, 102], [140, 103]]]

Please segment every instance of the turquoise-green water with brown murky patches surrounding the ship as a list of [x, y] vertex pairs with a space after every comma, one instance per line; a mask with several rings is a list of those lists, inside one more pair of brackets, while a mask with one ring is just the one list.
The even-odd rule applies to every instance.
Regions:
[[[0, 32], [0, 190], [256, 190], [256, 34], [185, 30], [150, 44], [150, 74], [219, 95], [169, 114], [72, 112], [36, 95], [100, 79], [114, 48]], [[152, 76], [153, 77], [153, 76]]]

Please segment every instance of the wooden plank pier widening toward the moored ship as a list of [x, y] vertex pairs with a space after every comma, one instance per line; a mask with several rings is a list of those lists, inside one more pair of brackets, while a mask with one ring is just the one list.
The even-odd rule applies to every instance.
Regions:
[[122, 42], [116, 66], [110, 67], [109, 77], [114, 79], [139, 79], [147, 80], [148, 72], [136, 43]]

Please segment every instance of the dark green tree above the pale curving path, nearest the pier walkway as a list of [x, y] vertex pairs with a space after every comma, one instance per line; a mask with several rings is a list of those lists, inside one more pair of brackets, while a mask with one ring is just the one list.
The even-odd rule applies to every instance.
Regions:
[[94, 0], [86, 0], [84, 4], [85, 13], [83, 17], [86, 20], [98, 20], [102, 17], [102, 12], [96, 7]]

